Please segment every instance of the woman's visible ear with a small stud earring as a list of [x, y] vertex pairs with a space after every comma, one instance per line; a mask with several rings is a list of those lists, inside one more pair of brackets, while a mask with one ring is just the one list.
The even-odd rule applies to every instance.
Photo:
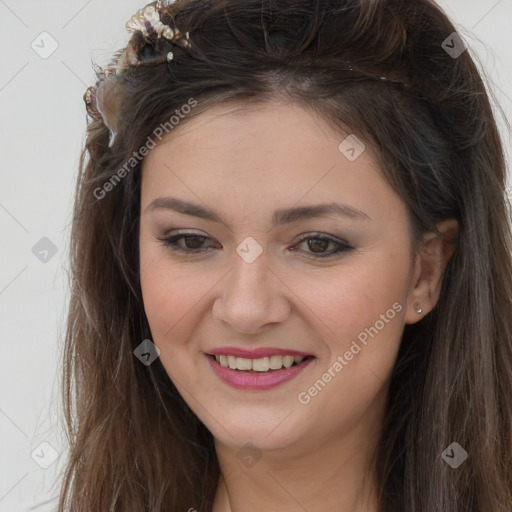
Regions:
[[437, 233], [427, 233], [416, 253], [407, 297], [406, 324], [418, 322], [434, 309], [441, 292], [444, 270], [457, 246], [459, 225], [455, 219], [444, 220], [436, 228], [442, 238]]

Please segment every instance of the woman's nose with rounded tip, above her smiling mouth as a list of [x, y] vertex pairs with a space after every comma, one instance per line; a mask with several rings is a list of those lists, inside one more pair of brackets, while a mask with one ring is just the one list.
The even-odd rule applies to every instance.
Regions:
[[290, 314], [290, 293], [284, 279], [268, 264], [264, 253], [252, 263], [234, 255], [234, 268], [221, 281], [213, 317], [233, 331], [257, 334]]

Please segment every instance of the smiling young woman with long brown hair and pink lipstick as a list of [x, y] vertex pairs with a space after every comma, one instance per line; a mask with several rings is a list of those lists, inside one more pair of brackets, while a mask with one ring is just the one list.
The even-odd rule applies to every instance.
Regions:
[[446, 15], [127, 29], [85, 96], [59, 510], [512, 510], [505, 162]]

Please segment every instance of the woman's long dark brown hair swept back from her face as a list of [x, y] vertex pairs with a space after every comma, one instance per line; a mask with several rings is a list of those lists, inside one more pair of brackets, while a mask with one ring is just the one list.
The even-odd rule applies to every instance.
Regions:
[[[510, 512], [506, 166], [482, 75], [469, 51], [455, 57], [443, 45], [453, 24], [429, 0], [178, 0], [165, 9], [193, 44], [148, 47], [134, 34], [141, 64], [119, 77], [116, 138], [109, 145], [107, 126], [90, 121], [80, 162], [59, 512], [212, 508], [212, 435], [159, 360], [134, 357], [151, 339], [139, 285], [140, 163], [97, 192], [191, 98], [197, 107], [176, 129], [223, 102], [310, 108], [375, 148], [415, 241], [458, 220], [438, 304], [404, 328], [377, 453], [380, 510]], [[172, 61], [155, 64], [171, 50]], [[452, 442], [469, 455], [457, 469], [441, 457]]]

